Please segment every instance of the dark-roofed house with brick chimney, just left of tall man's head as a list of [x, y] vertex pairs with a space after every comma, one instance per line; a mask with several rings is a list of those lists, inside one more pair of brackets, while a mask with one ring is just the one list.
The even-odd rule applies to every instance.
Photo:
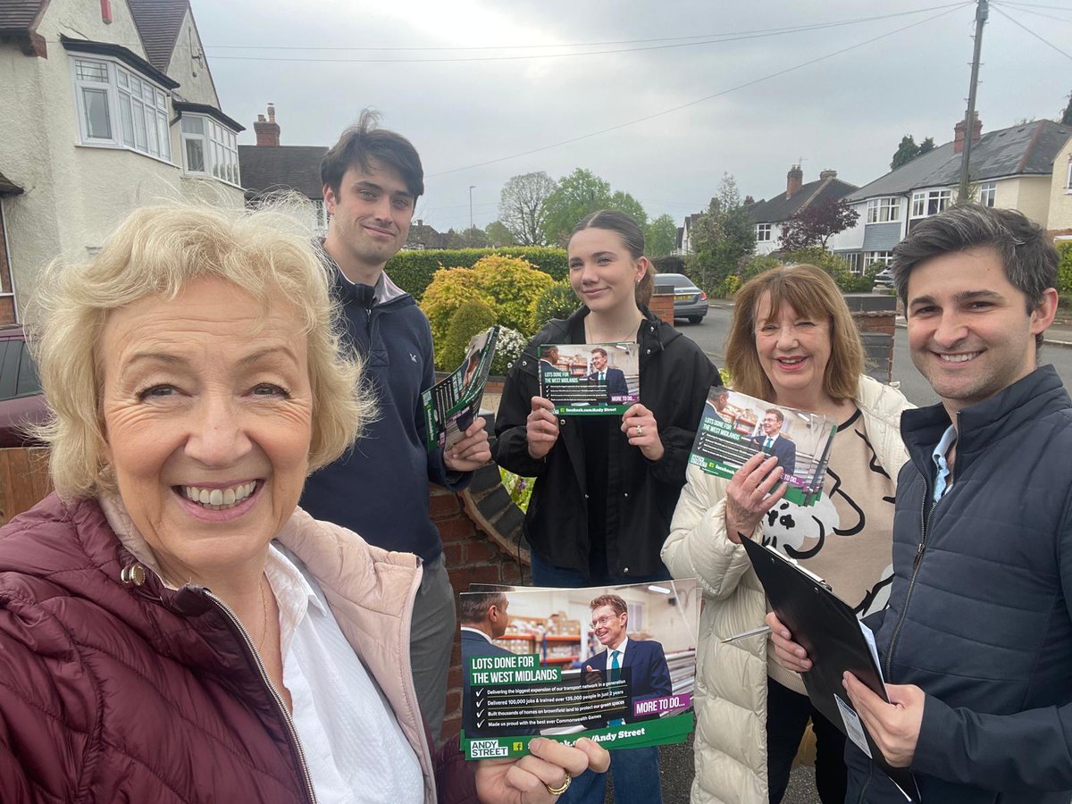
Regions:
[[268, 104], [268, 116], [257, 115], [253, 123], [256, 145], [238, 146], [245, 203], [255, 205], [276, 195], [296, 193], [309, 200], [313, 227], [324, 237], [328, 213], [324, 207], [321, 160], [328, 152], [323, 145], [280, 145], [280, 124], [276, 106]]

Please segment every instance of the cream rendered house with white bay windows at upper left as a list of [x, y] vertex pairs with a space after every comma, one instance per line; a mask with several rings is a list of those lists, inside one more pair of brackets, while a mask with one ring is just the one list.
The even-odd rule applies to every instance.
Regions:
[[236, 137], [189, 0], [0, 4], [0, 322], [43, 265], [96, 252], [131, 210], [240, 207]]

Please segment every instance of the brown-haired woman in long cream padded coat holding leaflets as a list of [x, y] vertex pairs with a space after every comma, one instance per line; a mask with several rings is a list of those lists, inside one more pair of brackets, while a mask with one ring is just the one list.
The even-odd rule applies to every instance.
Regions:
[[833, 279], [812, 265], [779, 266], [736, 295], [726, 346], [733, 389], [831, 417], [837, 433], [823, 496], [783, 500], [777, 458], [749, 459], [730, 479], [690, 466], [662, 560], [698, 577], [705, 605], [697, 668], [693, 801], [779, 802], [810, 718], [823, 804], [845, 799], [845, 739], [810, 705], [799, 675], [774, 661], [765, 636], [723, 639], [763, 625], [766, 598], [742, 538], [773, 544], [833, 585], [859, 616], [882, 608], [891, 578], [900, 441], [899, 391], [864, 375], [852, 315]]

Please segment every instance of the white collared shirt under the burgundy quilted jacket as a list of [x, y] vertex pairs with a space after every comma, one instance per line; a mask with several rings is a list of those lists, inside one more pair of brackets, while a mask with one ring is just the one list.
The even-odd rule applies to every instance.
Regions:
[[271, 545], [283, 684], [321, 804], [417, 804], [425, 781], [390, 704], [343, 636], [324, 593]]

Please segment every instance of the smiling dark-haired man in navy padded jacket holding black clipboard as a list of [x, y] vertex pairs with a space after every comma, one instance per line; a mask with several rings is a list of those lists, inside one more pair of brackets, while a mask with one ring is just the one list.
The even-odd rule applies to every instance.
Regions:
[[[924, 802], [1072, 799], [1072, 401], [1037, 366], [1057, 262], [1019, 212], [978, 205], [894, 250], [912, 361], [941, 403], [902, 418], [894, 580], [869, 623], [891, 702], [845, 686]], [[806, 669], [772, 620], [779, 660]], [[847, 745], [846, 800], [903, 802]]]

